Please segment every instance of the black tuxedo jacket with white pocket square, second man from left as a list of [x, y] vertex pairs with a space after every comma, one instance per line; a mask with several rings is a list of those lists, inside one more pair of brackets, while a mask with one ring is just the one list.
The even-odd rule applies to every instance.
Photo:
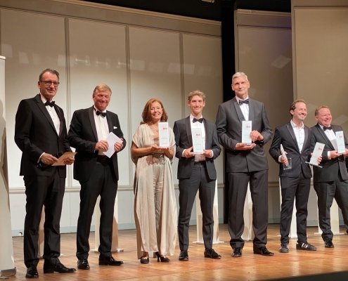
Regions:
[[[106, 119], [108, 121], [109, 132], [115, 133], [119, 138], [123, 138], [123, 150], [126, 147], [126, 140], [121, 131], [118, 116], [115, 113], [107, 111]], [[74, 178], [84, 183], [91, 177], [98, 156], [98, 150], [94, 150], [96, 143], [98, 143], [96, 122], [94, 121], [94, 106], [74, 112], [67, 139], [72, 148], [75, 148], [77, 152], [74, 162]], [[117, 152], [111, 158], [113, 171], [118, 181]]]

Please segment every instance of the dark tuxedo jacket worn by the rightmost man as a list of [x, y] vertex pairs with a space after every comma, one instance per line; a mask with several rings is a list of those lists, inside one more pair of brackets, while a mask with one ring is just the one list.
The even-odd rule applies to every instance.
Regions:
[[[341, 126], [331, 125], [333, 127], [333, 131], [343, 131]], [[324, 143], [325, 147], [322, 154], [322, 160], [320, 166], [323, 168], [319, 168], [313, 166], [313, 181], [322, 183], [326, 181], [335, 181], [338, 176], [338, 172], [342, 176], [344, 181], [348, 180], [348, 172], [347, 167], [345, 165], [344, 156], [341, 155], [335, 159], [328, 159], [328, 151], [335, 150], [333, 144], [330, 142], [326, 133], [324, 133], [321, 126], [316, 124], [316, 126], [311, 127], [312, 137], [311, 137], [311, 152], [314, 150], [314, 146], [316, 143]], [[347, 138], [344, 134], [344, 143], [346, 148], [348, 148]]]

